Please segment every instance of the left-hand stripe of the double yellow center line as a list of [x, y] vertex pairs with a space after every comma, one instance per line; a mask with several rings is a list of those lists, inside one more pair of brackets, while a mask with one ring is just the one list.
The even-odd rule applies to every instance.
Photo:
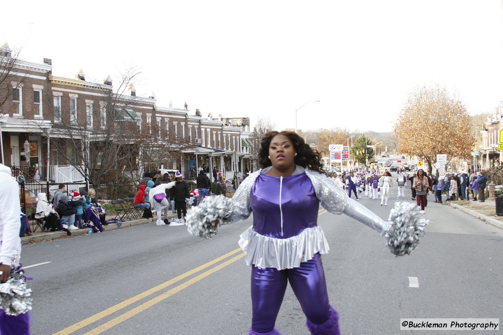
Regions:
[[[229, 256], [232, 256], [235, 253], [240, 252], [240, 251], [241, 251], [241, 248], [237, 248], [237, 249], [235, 249], [235, 250], [233, 250], [233, 251], [231, 251], [231, 252], [229, 252], [229, 253], [227, 253], [227, 254], [225, 254], [223, 256], [215, 258], [214, 260], [212, 260], [212, 261], [210, 261], [210, 262], [208, 262], [206, 264], [203, 264], [203, 265], [201, 265], [201, 266], [199, 266], [199, 267], [197, 267], [195, 269], [192, 269], [190, 271], [187, 271], [186, 273], [181, 274], [178, 277], [175, 277], [175, 278], [173, 278], [171, 280], [168, 280], [168, 281], [166, 281], [166, 282], [164, 282], [164, 283], [162, 283], [160, 285], [152, 287], [151, 289], [146, 290], [145, 292], [137, 294], [134, 297], [131, 297], [131, 298], [129, 298], [127, 300], [124, 300], [124, 301], [122, 301], [122, 302], [120, 302], [120, 303], [118, 303], [118, 304], [116, 304], [116, 305], [114, 305], [112, 307], [109, 307], [109, 308], [105, 309], [102, 312], [96, 313], [93, 316], [90, 316], [90, 317], [88, 317], [86, 319], [83, 319], [82, 321], [79, 321], [79, 322], [77, 322], [77, 323], [75, 323], [75, 324], [73, 324], [73, 325], [71, 325], [69, 327], [66, 327], [66, 328], [64, 328], [64, 329], [62, 329], [62, 330], [54, 333], [54, 335], [67, 335], [67, 334], [70, 334], [70, 333], [72, 333], [72, 332], [80, 329], [80, 328], [86, 327], [86, 326], [90, 325], [91, 323], [94, 323], [94, 322], [96, 322], [98, 320], [101, 320], [102, 318], [104, 318], [104, 317], [106, 317], [106, 316], [108, 316], [108, 315], [110, 315], [112, 313], [115, 313], [116, 311], [118, 311], [118, 310], [120, 310], [122, 308], [125, 308], [125, 307], [127, 307], [127, 306], [129, 306], [129, 305], [131, 305], [131, 304], [133, 304], [133, 303], [135, 303], [135, 302], [137, 302], [137, 301], [139, 301], [139, 300], [141, 300], [141, 299], [143, 299], [143, 298], [145, 298], [145, 297], [147, 297], [147, 296], [149, 296], [149, 295], [151, 295], [151, 294], [159, 291], [159, 290], [162, 290], [163, 288], [166, 288], [166, 287], [168, 287], [170, 285], [173, 285], [176, 282], [179, 282], [180, 280], [185, 279], [185, 278], [193, 275], [194, 273], [197, 273], [197, 272], [199, 272], [201, 270], [204, 270], [207, 267], [210, 267], [213, 264], [218, 263], [221, 260], [223, 260], [223, 259], [225, 259], [225, 258], [227, 258]], [[243, 256], [244, 256], [244, 254], [241, 257], [243, 257]]]

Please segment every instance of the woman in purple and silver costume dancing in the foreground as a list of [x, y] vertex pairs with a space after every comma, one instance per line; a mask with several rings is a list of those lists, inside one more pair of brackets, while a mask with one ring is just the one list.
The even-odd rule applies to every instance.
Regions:
[[[230, 204], [225, 203], [229, 199], [221, 198], [219, 206], [228, 206], [232, 212], [228, 216], [241, 219], [254, 214], [253, 226], [239, 240], [245, 261], [251, 265], [249, 334], [280, 334], [275, 322], [288, 282], [311, 334], [340, 334], [339, 314], [329, 304], [321, 263], [321, 255], [329, 248], [317, 226], [319, 205], [331, 213], [345, 213], [381, 235], [387, 233], [390, 223], [348, 198], [343, 188], [326, 177], [319, 153], [296, 133], [267, 133], [261, 141], [259, 162], [263, 169], [243, 180]], [[225, 217], [208, 221], [214, 217], [211, 211], [217, 201], [209, 197], [189, 212], [189, 232], [212, 236], [212, 229], [229, 222]]]

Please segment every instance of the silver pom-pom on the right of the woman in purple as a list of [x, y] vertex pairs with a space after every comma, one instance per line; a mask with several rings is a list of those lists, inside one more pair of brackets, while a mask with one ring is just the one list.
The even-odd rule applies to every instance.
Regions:
[[386, 232], [387, 246], [393, 255], [409, 255], [417, 247], [429, 222], [424, 214], [425, 211], [413, 203], [395, 203], [389, 213], [390, 227]]

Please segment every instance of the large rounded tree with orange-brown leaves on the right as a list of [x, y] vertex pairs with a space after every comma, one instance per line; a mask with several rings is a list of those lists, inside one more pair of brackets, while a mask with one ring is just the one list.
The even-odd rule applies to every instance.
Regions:
[[394, 125], [398, 151], [423, 157], [429, 171], [437, 154], [468, 158], [474, 136], [470, 116], [461, 101], [445, 88], [423, 87], [413, 92]]

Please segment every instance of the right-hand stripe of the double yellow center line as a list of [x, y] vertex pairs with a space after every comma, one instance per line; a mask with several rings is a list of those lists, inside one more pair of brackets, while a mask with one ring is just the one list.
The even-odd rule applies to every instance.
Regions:
[[218, 270], [223, 269], [227, 265], [232, 264], [235, 261], [237, 261], [237, 260], [239, 260], [240, 258], [243, 258], [243, 257], [244, 257], [244, 253], [240, 254], [240, 255], [237, 255], [237, 256], [231, 258], [230, 260], [225, 261], [225, 262], [223, 262], [223, 263], [215, 266], [214, 268], [201, 273], [200, 275], [198, 275], [198, 276], [196, 276], [196, 277], [194, 277], [192, 279], [189, 279], [185, 283], [182, 283], [182, 284], [178, 285], [177, 287], [174, 287], [171, 290], [169, 290], [167, 292], [164, 292], [161, 295], [159, 295], [159, 296], [157, 296], [155, 298], [152, 298], [152, 299], [148, 300], [145, 303], [142, 303], [138, 307], [135, 307], [135, 308], [133, 308], [133, 309], [125, 312], [124, 314], [119, 315], [116, 318], [114, 318], [114, 319], [112, 319], [112, 320], [110, 320], [108, 322], [103, 323], [102, 325], [94, 328], [93, 330], [86, 332], [84, 335], [98, 335], [98, 334], [101, 334], [102, 332], [104, 332], [104, 331], [106, 331], [106, 330], [108, 330], [108, 329], [110, 329], [110, 328], [118, 325], [119, 323], [121, 323], [121, 322], [129, 319], [130, 317], [135, 316], [136, 314], [144, 311], [145, 309], [152, 307], [153, 305], [161, 302], [162, 300], [164, 300], [166, 298], [169, 298], [173, 294], [180, 292], [184, 288], [187, 288], [187, 287], [191, 286], [192, 284], [197, 283], [201, 279], [203, 279], [203, 278], [211, 275], [212, 273], [217, 272]]

